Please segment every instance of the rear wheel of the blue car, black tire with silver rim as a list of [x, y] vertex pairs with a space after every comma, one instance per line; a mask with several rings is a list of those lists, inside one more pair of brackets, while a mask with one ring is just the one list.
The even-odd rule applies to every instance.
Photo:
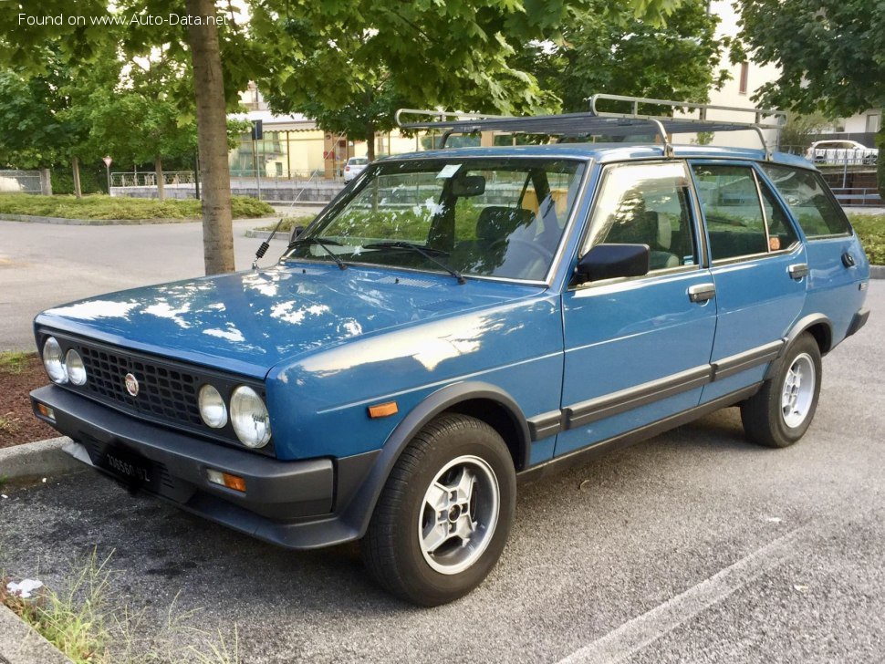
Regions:
[[744, 433], [766, 447], [788, 447], [811, 425], [823, 376], [820, 348], [803, 334], [787, 349], [775, 375], [741, 404]]

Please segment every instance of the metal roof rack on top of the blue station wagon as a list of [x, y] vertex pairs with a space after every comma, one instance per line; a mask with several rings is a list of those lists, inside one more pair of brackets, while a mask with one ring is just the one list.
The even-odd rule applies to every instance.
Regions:
[[[440, 147], [453, 133], [470, 134], [478, 131], [502, 131], [508, 133], [547, 134], [566, 138], [587, 138], [593, 135], [630, 136], [631, 134], [647, 133], [649, 126], [655, 130], [664, 146], [664, 153], [672, 157], [670, 137], [676, 133], [696, 133], [699, 131], [740, 131], [755, 130], [765, 149], [765, 159], [771, 159], [771, 149], [765, 140], [765, 129], [781, 129], [786, 123], [786, 112], [777, 109], [746, 109], [713, 104], [695, 104], [688, 101], [670, 99], [647, 99], [643, 97], [624, 97], [621, 95], [593, 95], [588, 99], [590, 110], [584, 113], [563, 113], [560, 115], [538, 116], [502, 116], [483, 115], [479, 113], [453, 113], [438, 110], [399, 109], [396, 112], [396, 123], [406, 130], [442, 130]], [[599, 110], [599, 101], [629, 103], [630, 112], [617, 113]], [[670, 109], [672, 115], [641, 114], [642, 106], [663, 106]], [[711, 114], [710, 111], [713, 111]], [[732, 119], [713, 119], [716, 111], [728, 113], [752, 114], [753, 121]], [[676, 113], [692, 113], [692, 115], [676, 116]], [[693, 117], [696, 113], [697, 117]], [[419, 116], [425, 118], [418, 121], [404, 122], [403, 116]], [[675, 117], [674, 117], [675, 116]], [[767, 119], [767, 122], [763, 122]]]

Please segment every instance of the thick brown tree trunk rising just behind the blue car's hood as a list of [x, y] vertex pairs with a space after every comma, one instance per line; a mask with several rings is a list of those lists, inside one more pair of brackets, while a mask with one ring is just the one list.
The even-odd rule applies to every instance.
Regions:
[[[203, 259], [206, 274], [234, 271], [234, 224], [231, 218], [231, 174], [227, 161], [227, 114], [224, 106], [221, 51], [214, 24], [213, 0], [187, 0], [188, 26], [197, 110], [197, 142], [203, 181]], [[207, 17], [212, 17], [207, 20]]]

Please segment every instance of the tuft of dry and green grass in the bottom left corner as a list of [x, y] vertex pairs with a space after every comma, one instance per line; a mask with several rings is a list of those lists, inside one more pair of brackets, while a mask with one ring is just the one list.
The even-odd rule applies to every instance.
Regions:
[[[165, 638], [155, 630], [143, 628], [144, 610], [133, 611], [129, 605], [119, 603], [111, 555], [102, 560], [93, 550], [85, 561], [70, 565], [60, 584], [66, 588], [64, 592], [43, 586], [27, 599], [9, 593], [6, 584], [10, 579], [0, 573], [0, 603], [11, 608], [75, 664], [241, 661], [236, 625], [232, 638], [224, 638], [220, 630], [212, 634], [189, 627], [188, 620], [200, 609], [178, 610], [178, 596], [167, 611]], [[137, 636], [137, 630], [150, 636]], [[190, 642], [182, 645], [182, 636]]]

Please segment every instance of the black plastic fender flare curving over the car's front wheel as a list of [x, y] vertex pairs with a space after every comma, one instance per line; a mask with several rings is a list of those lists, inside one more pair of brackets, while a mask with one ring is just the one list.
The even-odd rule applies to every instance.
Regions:
[[358, 537], [366, 534], [371, 515], [375, 511], [375, 504], [378, 503], [381, 490], [390, 476], [390, 471], [393, 470], [401, 452], [412, 437], [443, 410], [452, 409], [459, 403], [473, 399], [495, 401], [509, 412], [519, 436], [519, 440], [515, 441], [517, 445], [516, 468], [526, 467], [530, 446], [528, 424], [522, 409], [519, 408], [515, 400], [503, 389], [489, 383], [468, 381], [447, 385], [424, 399], [397, 425], [374, 459], [365, 480], [353, 494], [347, 506], [344, 507], [342, 518], [358, 533]]

